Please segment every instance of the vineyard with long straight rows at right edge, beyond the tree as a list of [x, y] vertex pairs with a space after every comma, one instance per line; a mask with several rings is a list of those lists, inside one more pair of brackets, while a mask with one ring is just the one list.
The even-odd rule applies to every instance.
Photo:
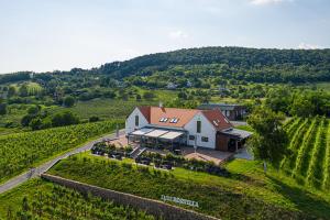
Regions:
[[320, 190], [330, 190], [330, 123], [329, 119], [294, 118], [285, 129], [290, 153], [282, 169], [297, 183]]

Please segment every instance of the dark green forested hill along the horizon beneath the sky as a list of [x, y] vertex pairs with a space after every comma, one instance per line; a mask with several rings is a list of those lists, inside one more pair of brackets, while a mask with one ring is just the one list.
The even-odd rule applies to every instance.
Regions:
[[[108, 75], [117, 79], [157, 73], [165, 78], [189, 74], [187, 78], [220, 76], [223, 79], [254, 82], [330, 81], [330, 50], [189, 48], [113, 62], [89, 70], [75, 68], [59, 74], [77, 73]], [[26, 73], [22, 74], [28, 76]], [[13, 77], [0, 76], [0, 84]], [[14, 78], [24, 77], [16, 75]]]

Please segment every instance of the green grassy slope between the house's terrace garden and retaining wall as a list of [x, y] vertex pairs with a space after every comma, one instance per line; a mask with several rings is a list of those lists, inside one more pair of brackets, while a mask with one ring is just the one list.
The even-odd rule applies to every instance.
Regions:
[[329, 195], [306, 191], [272, 168], [265, 176], [260, 162], [234, 160], [227, 169], [231, 177], [179, 167], [165, 172], [86, 152], [62, 161], [48, 173], [152, 199], [169, 195], [195, 200], [199, 208], [185, 208], [221, 219], [327, 219], [330, 215]]

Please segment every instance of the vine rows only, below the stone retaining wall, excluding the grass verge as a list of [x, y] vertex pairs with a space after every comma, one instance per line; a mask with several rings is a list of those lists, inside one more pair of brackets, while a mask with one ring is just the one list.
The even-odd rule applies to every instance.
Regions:
[[144, 211], [54, 185], [52, 189], [46, 191], [36, 191], [31, 200], [24, 197], [19, 210], [8, 208], [7, 219], [151, 220], [154, 217]]

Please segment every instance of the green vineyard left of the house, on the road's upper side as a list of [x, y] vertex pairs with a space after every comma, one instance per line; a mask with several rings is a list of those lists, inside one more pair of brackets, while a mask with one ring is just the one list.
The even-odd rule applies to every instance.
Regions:
[[0, 183], [91, 138], [110, 133], [122, 122], [112, 120], [0, 135]]

